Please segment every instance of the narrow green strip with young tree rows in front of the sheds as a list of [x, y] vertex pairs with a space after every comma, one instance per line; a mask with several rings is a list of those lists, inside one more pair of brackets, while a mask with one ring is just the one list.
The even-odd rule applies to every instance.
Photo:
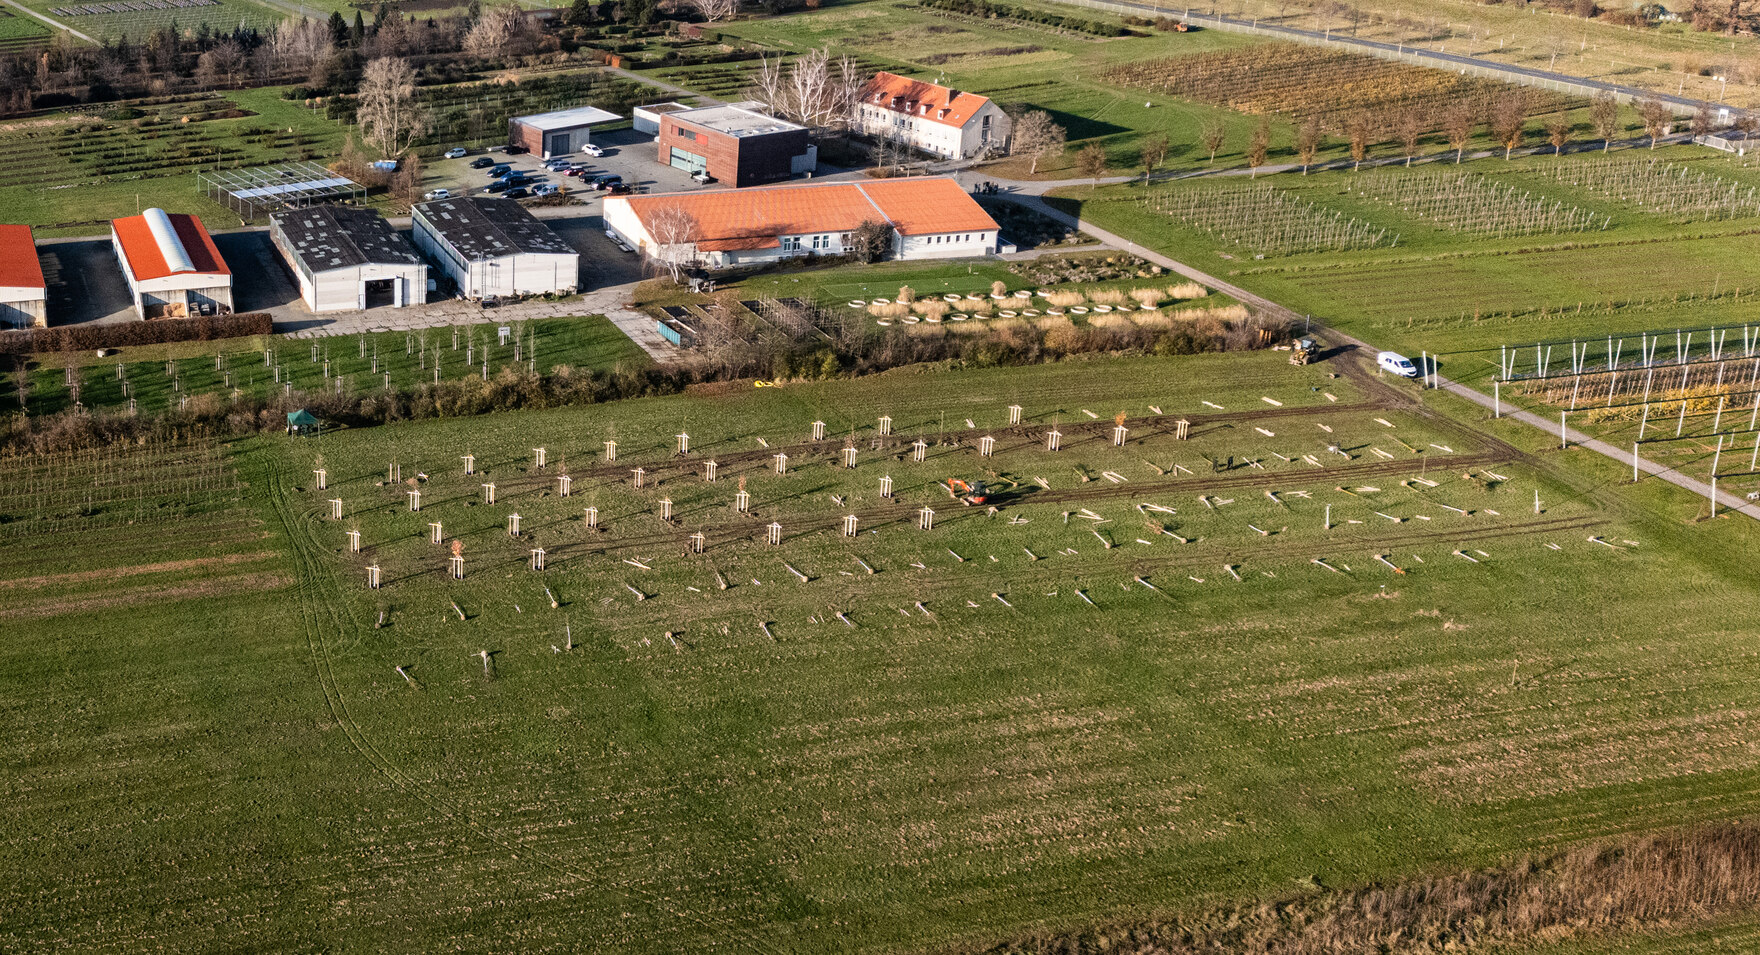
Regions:
[[93, 412], [134, 408], [160, 413], [187, 401], [232, 394], [361, 394], [414, 389], [428, 382], [503, 369], [570, 366], [591, 371], [637, 369], [646, 352], [604, 317], [512, 322], [502, 343], [496, 325], [452, 325], [417, 332], [373, 332], [320, 339], [283, 336], [181, 341], [121, 348], [118, 355], [37, 355], [26, 371], [0, 382], [0, 406], [33, 415], [76, 405]]

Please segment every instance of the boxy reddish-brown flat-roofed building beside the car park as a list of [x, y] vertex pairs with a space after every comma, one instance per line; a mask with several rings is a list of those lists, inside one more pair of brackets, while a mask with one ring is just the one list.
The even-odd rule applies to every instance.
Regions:
[[806, 127], [737, 106], [708, 106], [660, 114], [658, 160], [686, 172], [708, 172], [734, 186], [774, 183], [818, 165]]

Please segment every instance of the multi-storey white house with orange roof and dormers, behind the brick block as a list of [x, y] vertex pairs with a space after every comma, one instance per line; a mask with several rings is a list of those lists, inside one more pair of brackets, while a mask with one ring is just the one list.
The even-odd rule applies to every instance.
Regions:
[[1005, 149], [1014, 123], [977, 93], [878, 72], [862, 88], [855, 125], [864, 134], [945, 158]]

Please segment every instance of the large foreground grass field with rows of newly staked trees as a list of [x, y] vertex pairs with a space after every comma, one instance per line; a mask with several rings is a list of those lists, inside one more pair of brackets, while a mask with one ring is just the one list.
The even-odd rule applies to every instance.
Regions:
[[1093, 359], [5, 463], [0, 932], [919, 951], [1746, 813], [1751, 524], [1415, 399]]

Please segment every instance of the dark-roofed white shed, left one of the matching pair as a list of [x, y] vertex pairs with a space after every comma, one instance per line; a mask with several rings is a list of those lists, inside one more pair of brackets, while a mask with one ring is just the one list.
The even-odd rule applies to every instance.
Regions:
[[428, 264], [371, 209], [312, 206], [269, 216], [269, 239], [312, 311], [403, 308], [428, 301]]

